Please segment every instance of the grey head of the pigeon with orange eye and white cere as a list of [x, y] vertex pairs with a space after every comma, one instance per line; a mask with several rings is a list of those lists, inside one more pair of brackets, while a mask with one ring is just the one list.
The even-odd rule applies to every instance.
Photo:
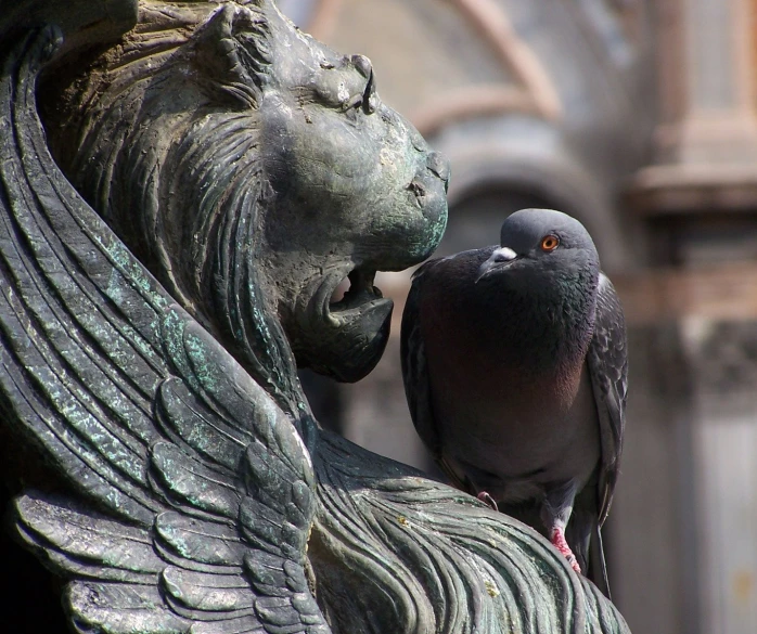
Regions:
[[502, 224], [499, 248], [478, 269], [476, 283], [547, 288], [572, 283], [595, 287], [599, 256], [589, 232], [567, 214], [522, 209]]

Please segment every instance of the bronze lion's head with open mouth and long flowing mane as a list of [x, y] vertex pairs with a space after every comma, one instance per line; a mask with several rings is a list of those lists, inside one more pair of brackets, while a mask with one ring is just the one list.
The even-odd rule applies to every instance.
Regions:
[[243, 364], [278, 350], [277, 389], [280, 325], [300, 366], [370, 372], [392, 311], [373, 276], [436, 247], [449, 168], [368, 59], [269, 2], [142, 2], [117, 47], [68, 67], [41, 91], [64, 95], [43, 103], [53, 155], [166, 288]]

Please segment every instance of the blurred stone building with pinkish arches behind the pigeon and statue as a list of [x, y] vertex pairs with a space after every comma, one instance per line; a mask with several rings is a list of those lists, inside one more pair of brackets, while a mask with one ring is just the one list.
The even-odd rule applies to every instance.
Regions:
[[[757, 632], [757, 2], [280, 0], [373, 62], [382, 98], [452, 163], [438, 254], [504, 216], [578, 217], [626, 308], [623, 477], [606, 529], [615, 599], [642, 634]], [[322, 419], [427, 467], [399, 368], [408, 274], [382, 363], [306, 376]]]

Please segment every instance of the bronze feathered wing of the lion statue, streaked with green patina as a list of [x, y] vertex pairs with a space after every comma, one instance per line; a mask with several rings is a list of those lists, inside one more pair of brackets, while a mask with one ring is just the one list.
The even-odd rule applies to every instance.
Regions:
[[0, 83], [0, 411], [78, 500], [16, 527], [72, 579], [78, 631], [326, 633], [293, 420], [177, 306], [55, 166], [27, 38]]

